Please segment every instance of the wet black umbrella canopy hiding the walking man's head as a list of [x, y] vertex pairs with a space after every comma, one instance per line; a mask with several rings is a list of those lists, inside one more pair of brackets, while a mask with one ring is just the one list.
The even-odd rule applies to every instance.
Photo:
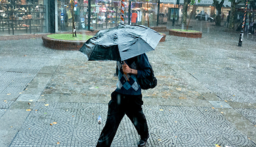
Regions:
[[163, 35], [143, 25], [124, 25], [101, 30], [79, 51], [88, 60], [123, 61], [156, 48]]

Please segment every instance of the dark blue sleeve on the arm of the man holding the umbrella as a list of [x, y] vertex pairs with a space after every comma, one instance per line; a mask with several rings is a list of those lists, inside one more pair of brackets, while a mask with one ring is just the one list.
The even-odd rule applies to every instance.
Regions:
[[137, 78], [148, 77], [151, 71], [150, 71], [150, 64], [148, 61], [148, 57], [145, 53], [142, 55], [139, 55], [138, 65], [139, 67], [137, 68], [138, 69]]

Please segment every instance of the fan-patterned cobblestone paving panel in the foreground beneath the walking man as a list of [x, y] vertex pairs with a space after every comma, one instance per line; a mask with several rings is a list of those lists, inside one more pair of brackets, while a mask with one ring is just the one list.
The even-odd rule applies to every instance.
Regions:
[[[38, 102], [11, 147], [96, 146], [104, 127], [107, 104]], [[255, 146], [221, 113], [211, 107], [144, 105], [150, 138], [147, 146]], [[102, 115], [102, 124], [97, 116]], [[52, 125], [50, 125], [52, 124]], [[125, 116], [112, 146], [136, 146], [139, 136]], [[127, 144], [129, 142], [129, 144]]]

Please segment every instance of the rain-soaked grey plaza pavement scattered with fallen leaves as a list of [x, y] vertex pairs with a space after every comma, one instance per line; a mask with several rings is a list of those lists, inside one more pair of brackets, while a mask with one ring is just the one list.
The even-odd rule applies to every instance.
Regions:
[[[204, 21], [191, 25], [202, 38], [165, 32], [166, 42], [147, 53], [158, 86], [143, 90], [146, 146], [255, 147], [256, 36], [245, 35], [238, 47], [239, 33]], [[87, 61], [79, 51], [46, 48], [42, 39], [0, 44], [0, 147], [96, 146], [118, 80], [116, 62]], [[112, 146], [138, 141], [125, 116]]]

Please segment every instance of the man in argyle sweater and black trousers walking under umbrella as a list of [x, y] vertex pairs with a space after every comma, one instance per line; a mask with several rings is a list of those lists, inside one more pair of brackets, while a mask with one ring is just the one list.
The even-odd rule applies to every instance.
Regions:
[[118, 66], [117, 88], [111, 94], [108, 103], [108, 117], [96, 147], [109, 147], [115, 137], [117, 128], [126, 114], [135, 126], [141, 140], [138, 146], [144, 146], [149, 137], [148, 126], [142, 111], [141, 87], [137, 78], [150, 75], [150, 64], [146, 54], [139, 55], [124, 61]]

